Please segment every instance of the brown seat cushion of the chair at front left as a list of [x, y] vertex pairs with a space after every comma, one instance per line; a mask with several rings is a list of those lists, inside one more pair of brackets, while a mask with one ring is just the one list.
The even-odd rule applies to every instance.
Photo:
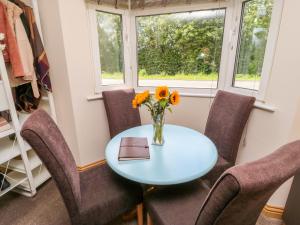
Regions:
[[80, 173], [82, 224], [107, 224], [142, 202], [142, 189], [107, 164]]

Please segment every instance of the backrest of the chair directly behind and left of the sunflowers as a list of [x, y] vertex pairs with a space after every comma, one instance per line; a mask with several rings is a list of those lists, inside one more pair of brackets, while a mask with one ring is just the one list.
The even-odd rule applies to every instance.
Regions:
[[126, 129], [141, 125], [139, 110], [132, 107], [134, 89], [104, 91], [102, 96], [111, 138]]

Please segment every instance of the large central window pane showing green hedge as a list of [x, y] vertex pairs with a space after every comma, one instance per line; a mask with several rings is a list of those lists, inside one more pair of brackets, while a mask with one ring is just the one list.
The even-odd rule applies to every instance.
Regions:
[[217, 88], [225, 9], [137, 17], [138, 85]]

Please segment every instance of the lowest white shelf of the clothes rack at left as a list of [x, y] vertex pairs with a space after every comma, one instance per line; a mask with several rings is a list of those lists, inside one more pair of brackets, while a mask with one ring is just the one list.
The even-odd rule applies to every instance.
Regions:
[[[43, 184], [45, 181], [47, 181], [51, 177], [51, 175], [49, 174], [49, 172], [45, 166], [42, 166], [41, 170], [40, 170], [40, 167], [37, 167], [36, 169], [34, 169], [32, 171], [32, 176], [33, 176], [33, 183], [36, 188], [38, 186], [40, 186], [41, 184]], [[25, 191], [30, 191], [28, 181], [19, 185], [18, 188], [25, 190]]]

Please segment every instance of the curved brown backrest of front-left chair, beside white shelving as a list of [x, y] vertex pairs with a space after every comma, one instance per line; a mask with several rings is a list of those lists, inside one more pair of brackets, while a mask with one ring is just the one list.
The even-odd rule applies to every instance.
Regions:
[[35, 150], [55, 180], [71, 218], [79, 215], [80, 178], [72, 153], [51, 117], [35, 111], [24, 123], [21, 135]]

